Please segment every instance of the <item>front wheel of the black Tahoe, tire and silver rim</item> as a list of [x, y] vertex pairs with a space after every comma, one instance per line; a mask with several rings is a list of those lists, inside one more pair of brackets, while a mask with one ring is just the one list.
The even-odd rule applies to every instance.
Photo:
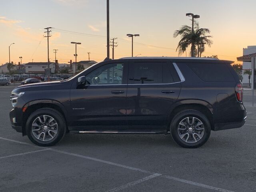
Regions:
[[66, 133], [65, 119], [60, 112], [52, 108], [38, 109], [28, 117], [26, 133], [38, 146], [53, 146]]

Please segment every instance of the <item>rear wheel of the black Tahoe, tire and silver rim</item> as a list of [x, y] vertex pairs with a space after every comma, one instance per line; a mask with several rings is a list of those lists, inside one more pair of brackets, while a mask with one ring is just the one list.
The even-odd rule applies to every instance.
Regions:
[[170, 132], [174, 141], [184, 148], [198, 148], [210, 137], [208, 118], [196, 110], [184, 110], [174, 116]]

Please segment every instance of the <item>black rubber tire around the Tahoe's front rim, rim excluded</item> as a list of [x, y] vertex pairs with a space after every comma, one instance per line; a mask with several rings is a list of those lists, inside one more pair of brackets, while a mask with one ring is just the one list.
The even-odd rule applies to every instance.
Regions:
[[[49, 141], [39, 140], [32, 133], [32, 123], [34, 122], [34, 120], [36, 120], [36, 118], [38, 118], [39, 116], [42, 116], [42, 115], [51, 116], [52, 118], [54, 118], [56, 120], [56, 123], [58, 125], [58, 130], [57, 130], [57, 133], [54, 136], [54, 138], [52, 138], [52, 140], [49, 140]], [[60, 140], [62, 140], [62, 138], [64, 137], [64, 135], [66, 133], [66, 129], [67, 129], [67, 126], [66, 126], [65, 118], [63, 117], [63, 115], [60, 112], [58, 112], [57, 110], [52, 109], [52, 108], [42, 108], [42, 109], [38, 109], [38, 110], [32, 112], [32, 114], [30, 114], [30, 116], [28, 117], [28, 120], [26, 122], [26, 133], [28, 135], [28, 138], [34, 144], [36, 144], [38, 146], [53, 146], [53, 145], [55, 145]], [[50, 133], [50, 131], [49, 131], [49, 133]]]

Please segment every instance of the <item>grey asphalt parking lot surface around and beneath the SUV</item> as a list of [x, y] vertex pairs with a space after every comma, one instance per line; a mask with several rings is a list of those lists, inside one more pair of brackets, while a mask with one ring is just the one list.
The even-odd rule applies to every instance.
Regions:
[[0, 86], [1, 192], [255, 192], [256, 107], [244, 91], [242, 128], [211, 132], [197, 149], [170, 135], [72, 135], [38, 147], [10, 126], [10, 92]]

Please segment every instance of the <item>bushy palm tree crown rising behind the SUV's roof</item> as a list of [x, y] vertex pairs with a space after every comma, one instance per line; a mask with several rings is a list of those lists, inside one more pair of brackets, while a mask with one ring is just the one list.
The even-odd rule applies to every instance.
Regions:
[[[181, 36], [181, 40], [178, 43], [176, 51], [178, 50], [179, 55], [183, 54], [188, 46], [191, 46], [190, 56], [192, 56], [192, 42], [194, 42], [194, 50], [197, 52], [198, 57], [202, 52], [204, 52], [205, 44], [209, 47], [212, 44], [212, 36], [206, 36], [206, 34], [210, 33], [210, 30], [207, 28], [200, 28], [199, 23], [194, 21], [195, 30], [192, 31], [192, 27], [188, 25], [183, 25], [180, 30], [174, 31], [173, 37]], [[196, 49], [197, 46], [197, 49]]]

